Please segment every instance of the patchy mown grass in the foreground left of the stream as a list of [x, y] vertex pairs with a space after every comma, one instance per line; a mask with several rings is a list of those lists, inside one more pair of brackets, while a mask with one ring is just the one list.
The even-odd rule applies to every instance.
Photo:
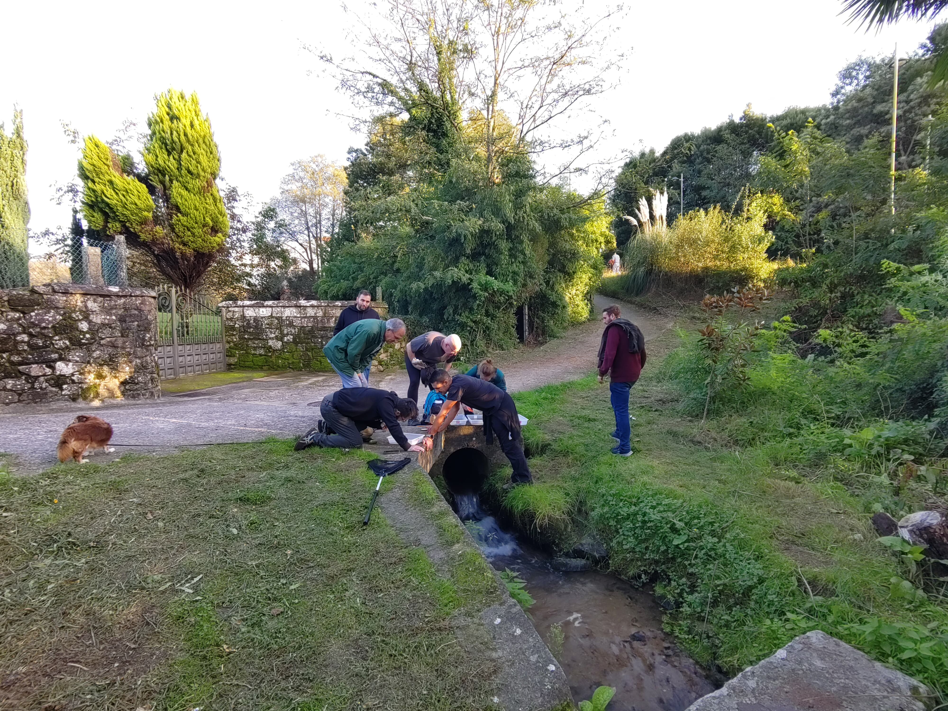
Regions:
[[458, 620], [493, 573], [474, 550], [439, 573], [377, 510], [363, 528], [366, 458], [269, 441], [0, 473], [10, 708], [489, 707]]

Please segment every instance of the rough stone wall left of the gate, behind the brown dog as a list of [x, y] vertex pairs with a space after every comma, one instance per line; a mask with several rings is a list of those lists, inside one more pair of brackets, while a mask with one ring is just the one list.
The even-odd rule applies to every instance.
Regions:
[[0, 405], [156, 399], [149, 289], [48, 283], [0, 290]]

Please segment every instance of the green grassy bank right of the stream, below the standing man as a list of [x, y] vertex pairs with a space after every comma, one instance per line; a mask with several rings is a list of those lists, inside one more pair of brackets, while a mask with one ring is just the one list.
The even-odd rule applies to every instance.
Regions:
[[870, 525], [877, 484], [777, 464], [765, 445], [736, 446], [730, 420], [681, 414], [681, 392], [659, 377], [673, 345], [651, 344], [632, 391], [629, 459], [609, 453], [608, 387], [592, 376], [518, 393], [538, 483], [495, 488], [504, 508], [561, 547], [593, 529], [616, 573], [656, 583], [674, 606], [666, 628], [702, 663], [733, 674], [824, 629], [943, 693], [948, 606], [890, 584], [908, 574]]

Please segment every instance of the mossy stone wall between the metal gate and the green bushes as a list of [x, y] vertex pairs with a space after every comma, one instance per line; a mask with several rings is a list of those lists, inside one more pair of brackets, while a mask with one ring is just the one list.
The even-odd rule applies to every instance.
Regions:
[[[353, 301], [224, 301], [228, 368], [281, 371], [332, 371], [322, 347], [333, 337], [342, 309]], [[372, 307], [383, 319], [388, 304]], [[404, 367], [404, 346], [386, 345], [373, 371]]]

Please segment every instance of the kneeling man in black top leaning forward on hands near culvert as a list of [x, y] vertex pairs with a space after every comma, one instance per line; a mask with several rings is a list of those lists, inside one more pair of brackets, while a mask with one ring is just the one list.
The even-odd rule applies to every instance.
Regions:
[[365, 428], [389, 428], [395, 442], [409, 452], [424, 451], [418, 445], [409, 445], [399, 421], [418, 416], [413, 400], [398, 397], [394, 392], [374, 388], [344, 388], [322, 398], [319, 404], [322, 419], [316, 427], [304, 434], [296, 449], [306, 447], [356, 448], [362, 447]]

